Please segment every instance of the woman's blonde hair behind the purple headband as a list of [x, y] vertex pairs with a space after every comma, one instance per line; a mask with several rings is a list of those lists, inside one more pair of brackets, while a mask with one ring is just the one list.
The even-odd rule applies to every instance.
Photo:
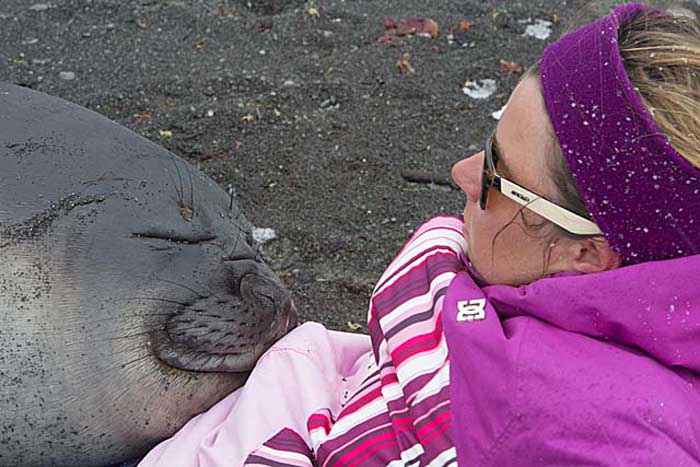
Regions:
[[641, 14], [618, 32], [627, 75], [674, 149], [700, 168], [700, 24]]

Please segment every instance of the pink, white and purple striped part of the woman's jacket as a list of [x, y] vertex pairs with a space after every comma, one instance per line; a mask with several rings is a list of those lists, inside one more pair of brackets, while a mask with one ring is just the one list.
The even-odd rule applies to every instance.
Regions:
[[419, 227], [374, 289], [372, 358], [339, 410], [311, 413], [305, 433], [280, 427], [244, 465], [456, 465], [442, 305], [464, 255], [461, 220], [441, 216]]

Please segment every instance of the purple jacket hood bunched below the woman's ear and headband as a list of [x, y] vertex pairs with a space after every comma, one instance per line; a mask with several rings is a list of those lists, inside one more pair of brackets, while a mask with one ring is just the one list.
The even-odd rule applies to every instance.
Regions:
[[501, 319], [532, 316], [561, 329], [641, 349], [700, 373], [700, 255], [596, 274], [562, 273], [483, 292]]

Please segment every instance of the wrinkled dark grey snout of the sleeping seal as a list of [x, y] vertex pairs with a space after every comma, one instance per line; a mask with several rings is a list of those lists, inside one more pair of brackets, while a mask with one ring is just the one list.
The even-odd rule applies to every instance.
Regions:
[[156, 354], [168, 365], [191, 371], [249, 371], [297, 325], [290, 292], [264, 263], [232, 261], [226, 269], [224, 283], [215, 287], [219, 291], [178, 307], [156, 339]]

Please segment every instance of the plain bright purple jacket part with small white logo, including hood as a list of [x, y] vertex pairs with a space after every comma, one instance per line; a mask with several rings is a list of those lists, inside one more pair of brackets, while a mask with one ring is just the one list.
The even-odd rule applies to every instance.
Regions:
[[[464, 466], [700, 465], [700, 255], [444, 303]], [[485, 300], [485, 301], [484, 301]]]

